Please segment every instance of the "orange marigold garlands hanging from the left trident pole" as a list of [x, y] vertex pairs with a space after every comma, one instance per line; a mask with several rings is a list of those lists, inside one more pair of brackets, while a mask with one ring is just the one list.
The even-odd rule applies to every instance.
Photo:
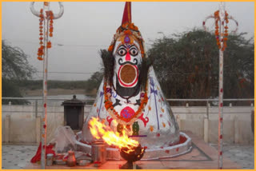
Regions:
[[[54, 25], [53, 25], [53, 23], [54, 23], [54, 21], [53, 21], [53, 19], [54, 19], [54, 13], [51, 11], [51, 10], [49, 10], [49, 11], [46, 11], [46, 16], [47, 16], [47, 18], [50, 18], [50, 25], [49, 25], [49, 36], [50, 37], [53, 37], [53, 31], [54, 31]], [[39, 40], [40, 40], [40, 42], [39, 42], [39, 44], [40, 44], [40, 47], [38, 48], [38, 60], [39, 61], [42, 61], [43, 60], [43, 58], [42, 58], [42, 55], [44, 54], [44, 47], [45, 46], [43, 46], [43, 38], [42, 38], [42, 36], [43, 36], [43, 31], [42, 31], [42, 29], [43, 29], [43, 23], [42, 22], [44, 22], [44, 16], [43, 16], [43, 10], [41, 9], [40, 10], [40, 15], [39, 15], [39, 36], [40, 36], [40, 38], [39, 38]], [[47, 33], [48, 34], [48, 33]], [[50, 49], [51, 48], [51, 42], [50, 41], [48, 41], [47, 42], [47, 45], [46, 45], [46, 47], [48, 48], [48, 49]]]

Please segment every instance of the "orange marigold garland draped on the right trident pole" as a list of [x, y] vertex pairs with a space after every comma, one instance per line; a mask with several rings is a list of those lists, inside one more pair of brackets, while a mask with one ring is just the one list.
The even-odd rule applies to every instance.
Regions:
[[[221, 42], [219, 40], [219, 27], [218, 27], [218, 22], [219, 22], [219, 10], [215, 11], [214, 12], [214, 18], [215, 18], [215, 36], [216, 36], [216, 41], [217, 41], [217, 46], [218, 46], [218, 49], [222, 49], [222, 51], [224, 51], [226, 49], [226, 41], [227, 41], [227, 36], [229, 35], [228, 34], [228, 26], [227, 26], [227, 23], [229, 23], [229, 19], [228, 19], [228, 15], [227, 12], [225, 11], [225, 22], [226, 22], [226, 26], [224, 27], [224, 35], [223, 35], [223, 40], [221, 40], [223, 42], [223, 46], [221, 46]], [[224, 25], [224, 23], [221, 23], [222, 25]]]

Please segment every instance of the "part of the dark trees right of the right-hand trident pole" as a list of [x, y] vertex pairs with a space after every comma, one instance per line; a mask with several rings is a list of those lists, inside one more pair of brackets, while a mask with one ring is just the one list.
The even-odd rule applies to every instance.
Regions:
[[254, 98], [254, 42], [230, 35], [224, 54], [224, 97]]

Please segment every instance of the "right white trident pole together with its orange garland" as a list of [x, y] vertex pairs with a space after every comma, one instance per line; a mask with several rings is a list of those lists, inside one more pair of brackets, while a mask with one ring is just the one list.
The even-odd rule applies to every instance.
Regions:
[[[238, 22], [226, 13], [224, 2], [220, 2], [219, 10], [214, 12], [214, 15], [208, 16], [202, 25], [206, 29], [206, 20], [214, 18], [215, 20], [215, 36], [219, 49], [219, 73], [218, 73], [218, 169], [222, 169], [222, 141], [223, 141], [223, 52], [226, 49], [226, 41], [228, 36], [227, 23], [229, 19], [233, 20], [237, 27], [233, 31], [238, 30]], [[226, 26], [224, 24], [226, 23]]]

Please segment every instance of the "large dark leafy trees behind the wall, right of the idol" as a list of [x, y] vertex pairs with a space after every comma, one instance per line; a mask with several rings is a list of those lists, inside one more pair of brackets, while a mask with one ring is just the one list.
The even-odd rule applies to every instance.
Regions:
[[[224, 52], [224, 97], [254, 97], [254, 44], [230, 35]], [[214, 34], [191, 30], [164, 36], [148, 51], [166, 97], [218, 97], [218, 46]]]

